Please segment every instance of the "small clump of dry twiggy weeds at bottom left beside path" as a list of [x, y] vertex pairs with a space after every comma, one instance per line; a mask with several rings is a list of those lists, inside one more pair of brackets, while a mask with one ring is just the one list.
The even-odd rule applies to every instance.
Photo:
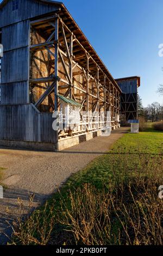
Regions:
[[[32, 201], [33, 198], [30, 198], [31, 205]], [[23, 205], [20, 207], [23, 208]], [[29, 205], [29, 214], [12, 223], [14, 239], [10, 245], [47, 245], [54, 226], [53, 206], [48, 208], [46, 203], [42, 211], [35, 210], [32, 215], [30, 209]]]

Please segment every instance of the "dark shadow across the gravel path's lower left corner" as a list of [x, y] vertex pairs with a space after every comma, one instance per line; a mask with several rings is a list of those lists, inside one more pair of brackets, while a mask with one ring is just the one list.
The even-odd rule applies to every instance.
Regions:
[[[33, 198], [31, 202], [30, 198]], [[47, 195], [45, 194], [4, 189], [3, 199], [0, 199], [0, 245], [5, 245], [10, 240], [13, 221], [17, 217], [26, 217], [29, 212], [34, 211], [46, 199]]]

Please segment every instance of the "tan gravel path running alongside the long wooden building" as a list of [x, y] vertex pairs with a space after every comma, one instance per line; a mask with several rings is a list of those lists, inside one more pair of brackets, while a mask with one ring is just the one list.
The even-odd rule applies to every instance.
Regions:
[[25, 212], [29, 193], [35, 194], [33, 207], [38, 206], [71, 174], [84, 168], [95, 157], [105, 153], [128, 128], [120, 128], [110, 137], [97, 137], [59, 153], [0, 149], [0, 167], [4, 170], [3, 183], [8, 187], [0, 199], [0, 245], [10, 233], [9, 224], [21, 214], [17, 198], [21, 198]]

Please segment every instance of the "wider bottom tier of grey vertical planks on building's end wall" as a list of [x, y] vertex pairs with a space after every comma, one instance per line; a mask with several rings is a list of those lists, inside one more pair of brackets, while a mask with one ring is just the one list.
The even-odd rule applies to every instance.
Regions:
[[31, 105], [0, 106], [0, 139], [56, 143], [52, 113], [39, 113]]

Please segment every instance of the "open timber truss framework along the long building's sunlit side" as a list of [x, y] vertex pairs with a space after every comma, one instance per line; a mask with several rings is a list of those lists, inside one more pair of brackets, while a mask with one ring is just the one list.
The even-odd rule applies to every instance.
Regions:
[[[106, 117], [111, 111], [112, 125], [117, 123], [120, 88], [89, 53], [84, 37], [58, 14], [31, 21], [29, 81], [30, 100], [41, 112], [58, 111], [58, 94], [82, 105], [86, 125], [81, 122], [74, 133], [103, 129], [105, 124], [99, 120], [89, 125], [95, 112], [103, 111]], [[68, 131], [59, 131], [60, 136], [66, 134]]]

